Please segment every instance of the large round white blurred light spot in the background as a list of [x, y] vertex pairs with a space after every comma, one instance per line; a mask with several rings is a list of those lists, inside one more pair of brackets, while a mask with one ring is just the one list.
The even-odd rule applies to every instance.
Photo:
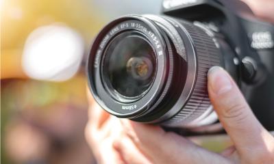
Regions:
[[73, 77], [84, 55], [83, 38], [62, 24], [38, 27], [25, 42], [22, 66], [32, 79], [66, 81]]

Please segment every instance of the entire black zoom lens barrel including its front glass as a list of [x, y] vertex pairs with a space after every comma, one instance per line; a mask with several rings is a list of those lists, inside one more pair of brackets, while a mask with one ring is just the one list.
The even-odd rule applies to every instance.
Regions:
[[105, 26], [92, 45], [90, 90], [119, 118], [174, 127], [214, 122], [207, 72], [223, 66], [219, 46], [202, 25], [123, 16]]

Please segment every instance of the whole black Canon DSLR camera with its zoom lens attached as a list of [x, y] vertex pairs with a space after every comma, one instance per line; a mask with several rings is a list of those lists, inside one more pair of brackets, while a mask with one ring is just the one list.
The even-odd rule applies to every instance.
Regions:
[[218, 122], [207, 73], [221, 66], [274, 130], [274, 26], [238, 0], [164, 0], [160, 15], [127, 15], [98, 34], [88, 57], [95, 100], [118, 118], [193, 128]]

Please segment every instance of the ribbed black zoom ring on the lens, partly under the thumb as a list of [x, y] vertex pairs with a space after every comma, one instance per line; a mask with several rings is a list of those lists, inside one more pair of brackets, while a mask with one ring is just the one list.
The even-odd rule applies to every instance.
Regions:
[[211, 105], [208, 97], [207, 74], [212, 66], [220, 66], [220, 52], [213, 38], [206, 31], [190, 23], [180, 22], [190, 34], [197, 55], [197, 80], [186, 105], [173, 118], [164, 122], [166, 126], [188, 124], [202, 115]]

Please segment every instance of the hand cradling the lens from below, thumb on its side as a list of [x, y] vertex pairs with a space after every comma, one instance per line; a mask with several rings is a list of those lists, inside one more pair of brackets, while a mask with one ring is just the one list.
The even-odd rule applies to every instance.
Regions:
[[86, 138], [99, 163], [274, 163], [274, 138], [258, 122], [229, 74], [214, 67], [208, 92], [234, 146], [221, 154], [158, 126], [114, 118], [90, 97]]

